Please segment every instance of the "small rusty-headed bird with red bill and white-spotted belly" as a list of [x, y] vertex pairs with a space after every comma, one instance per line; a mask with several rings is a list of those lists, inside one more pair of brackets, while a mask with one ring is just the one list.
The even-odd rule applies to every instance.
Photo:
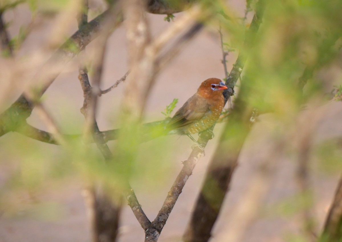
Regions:
[[218, 78], [209, 78], [201, 83], [197, 92], [174, 114], [168, 123], [170, 134], [189, 136], [210, 128], [224, 107], [223, 90], [227, 86]]

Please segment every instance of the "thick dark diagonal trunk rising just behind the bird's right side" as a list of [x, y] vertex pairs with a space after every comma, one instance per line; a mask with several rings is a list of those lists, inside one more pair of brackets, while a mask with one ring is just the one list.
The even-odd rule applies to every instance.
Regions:
[[[263, 13], [263, 0], [259, 0], [253, 20], [246, 34], [245, 46], [250, 47], [253, 43], [261, 24]], [[225, 102], [229, 96], [234, 94], [233, 88], [242, 72], [245, 60], [245, 56], [240, 52], [226, 80], [226, 85], [229, 88], [224, 92]], [[243, 96], [244, 92], [246, 92], [246, 95], [248, 94], [248, 90], [244, 91], [243, 86], [241, 84], [239, 96]], [[251, 108], [246, 107], [246, 104], [237, 98], [234, 109], [225, 125], [224, 133], [220, 138], [220, 143], [214, 157], [210, 161], [208, 173], [197, 199], [195, 210], [184, 233], [184, 241], [204, 242], [209, 240], [212, 227], [217, 219], [232, 174], [237, 165], [242, 144], [249, 133], [250, 117]], [[239, 130], [239, 135], [232, 136], [231, 134], [236, 132], [234, 130]]]

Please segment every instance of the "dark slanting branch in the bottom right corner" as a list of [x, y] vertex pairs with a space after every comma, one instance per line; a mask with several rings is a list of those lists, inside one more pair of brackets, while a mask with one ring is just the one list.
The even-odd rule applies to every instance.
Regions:
[[342, 238], [342, 177], [326, 219], [321, 241], [338, 242]]

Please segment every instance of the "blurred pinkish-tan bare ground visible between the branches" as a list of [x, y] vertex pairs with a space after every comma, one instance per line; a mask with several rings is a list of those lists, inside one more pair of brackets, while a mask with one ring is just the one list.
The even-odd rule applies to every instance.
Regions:
[[[243, 11], [244, 3], [235, 1], [236, 9]], [[177, 17], [178, 15], [176, 15]], [[153, 36], [157, 36], [163, 29], [167, 28], [170, 23], [163, 21], [163, 15], [148, 14], [151, 24]], [[5, 19], [13, 21], [10, 27], [10, 34], [13, 36], [18, 31], [20, 25], [25, 24], [30, 19], [29, 12], [25, 7], [9, 12], [5, 15]], [[171, 23], [172, 24], [172, 23]], [[74, 26], [70, 28], [70, 34], [76, 29], [76, 20]], [[37, 31], [32, 33], [27, 42], [23, 46], [22, 55], [30, 53], [39, 48], [49, 35], [49, 22], [42, 24]], [[115, 80], [119, 79], [127, 71], [127, 51], [125, 44], [124, 27], [119, 27], [109, 39], [106, 63], [103, 76], [103, 87], [110, 86]], [[95, 43], [87, 48], [92, 48]], [[172, 63], [163, 70], [157, 77], [156, 85], [153, 88], [152, 95], [149, 97], [146, 120], [154, 121], [162, 119], [160, 111], [168, 105], [173, 98], [179, 98], [179, 105], [182, 105], [188, 97], [195, 93], [201, 81], [209, 77], [223, 78], [223, 67], [220, 62], [221, 50], [216, 30], [213, 27], [201, 32]], [[228, 58], [228, 70], [231, 69], [235, 61], [234, 55]], [[76, 69], [75, 69], [76, 70]], [[71, 73], [63, 73], [48, 89], [44, 104], [54, 110], [60, 110], [62, 114], [53, 112], [53, 116], [57, 121], [64, 121], [69, 117], [73, 117], [73, 125], [71, 127], [63, 127], [67, 133], [70, 130], [75, 131], [75, 127], [81, 131], [83, 116], [79, 112], [82, 105], [82, 91], [77, 79], [77, 71]], [[116, 128], [116, 113], [120, 105], [121, 95], [124, 83], [110, 93], [100, 98], [100, 111], [98, 113], [98, 125], [100, 130]], [[18, 92], [19, 94], [20, 92]], [[17, 94], [17, 95], [18, 95]], [[13, 100], [17, 96], [13, 96]], [[61, 101], [62, 99], [62, 101]], [[66, 108], [67, 107], [67, 108]], [[180, 107], [180, 106], [178, 106]], [[342, 105], [340, 103], [328, 104], [323, 107], [327, 110], [323, 115], [317, 132], [314, 134], [314, 140], [319, 142], [323, 138], [342, 135]], [[79, 113], [76, 114], [75, 113]], [[219, 221], [215, 225], [213, 238], [211, 241], [225, 241], [224, 232], [226, 223], [232, 213], [235, 205], [239, 203], [241, 195], [246, 190], [253, 172], [257, 164], [262, 161], [272, 144], [272, 137], [267, 133], [269, 115], [260, 118], [248, 142], [245, 144], [241, 153], [239, 166], [233, 177], [231, 191], [226, 197], [223, 211]], [[38, 126], [39, 118], [35, 111], [28, 119], [31, 124]], [[39, 128], [39, 126], [38, 126]], [[183, 193], [180, 195], [169, 220], [166, 223], [160, 235], [160, 242], [180, 241], [180, 237], [189, 219], [190, 211], [194, 205], [198, 190], [201, 186], [203, 176], [208, 161], [213, 154], [215, 144], [218, 141], [222, 124], [215, 128], [216, 136], [209, 142], [206, 147], [206, 156], [201, 158], [197, 164], [193, 176], [190, 177]], [[18, 134], [6, 134], [1, 137], [4, 139], [12, 139], [19, 136]], [[190, 151], [192, 142], [187, 137], [168, 137], [175, 146], [177, 153], [174, 155], [174, 163], [170, 165], [170, 172], [165, 174], [165, 184], [158, 185], [152, 191], [144, 191], [136, 189], [135, 193], [141, 203], [146, 215], [153, 220], [161, 207], [163, 200], [171, 187], [173, 180], [181, 169], [181, 161], [185, 160]], [[27, 138], [27, 142], [36, 142]], [[158, 141], [151, 141], [158, 142]], [[41, 144], [41, 150], [56, 149], [53, 145]], [[272, 146], [272, 145], [271, 145]], [[5, 159], [4, 157], [2, 157]], [[8, 158], [10, 159], [10, 158]], [[10, 168], [2, 166], [0, 169], [0, 185], [3, 185], [8, 170]], [[290, 198], [297, 191], [294, 182], [295, 163], [287, 158], [279, 158], [277, 165], [277, 173], [274, 183], [266, 197], [266, 204], [272, 204], [281, 201], [284, 198]], [[321, 228], [330, 205], [335, 187], [337, 185], [338, 176], [325, 175], [324, 173], [314, 173], [312, 184], [315, 187], [315, 212], [319, 218], [319, 228]], [[139, 187], [139, 184], [132, 184], [132, 187]], [[82, 184], [70, 179], [68, 182], [56, 187], [52, 187], [50, 192], [37, 193], [36, 201], [28, 196], [23, 195], [22, 199], [28, 204], [33, 204], [39, 210], [40, 204], [47, 206], [44, 211], [51, 208], [51, 216], [31, 216], [25, 213], [25, 208], [19, 209], [16, 216], [6, 216], [6, 208], [1, 208], [3, 213], [0, 217], [0, 242], [88, 242], [90, 241], [90, 229], [87, 220], [86, 207], [81, 195]], [[27, 201], [26, 201], [27, 200]], [[35, 211], [35, 210], [34, 210]], [[41, 219], [45, 217], [45, 219]], [[124, 206], [121, 217], [120, 226], [120, 242], [143, 241], [144, 233], [139, 223], [136, 221], [133, 213], [128, 206]], [[282, 214], [265, 215], [247, 231], [244, 241], [261, 242], [261, 241], [286, 241], [287, 235], [299, 232], [298, 216], [285, 217]]]

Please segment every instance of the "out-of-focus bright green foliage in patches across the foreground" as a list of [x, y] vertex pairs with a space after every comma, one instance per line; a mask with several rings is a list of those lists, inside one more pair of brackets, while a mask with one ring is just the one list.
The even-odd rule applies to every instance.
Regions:
[[[2, 9], [10, 9], [22, 2], [2, 1], [0, 6]], [[259, 113], [273, 112], [277, 115], [277, 120], [295, 125], [293, 120], [301, 111], [303, 102], [317, 98], [324, 100], [327, 92], [325, 86], [331, 89], [337, 85], [336, 95], [341, 96], [341, 80], [320, 76], [326, 76], [325, 68], [329, 65], [340, 65], [341, 62], [342, 1], [264, 0], [265, 14], [260, 29], [253, 41], [245, 42], [248, 23], [255, 11], [256, 2], [247, 1], [247, 18], [223, 0], [206, 0], [202, 1], [202, 4], [206, 10], [215, 13], [213, 20], [208, 21], [207, 25], [217, 29], [218, 22], [221, 23], [225, 51], [236, 50], [235, 52], [241, 53], [247, 59], [242, 73], [244, 78], [241, 81], [241, 88], [244, 87], [246, 91], [239, 95], [239, 100], [242, 100], [250, 111], [256, 108]], [[32, 15], [53, 15], [68, 7], [68, 0], [27, 0], [26, 3]], [[170, 18], [172, 19], [172, 16]], [[166, 20], [170, 21], [170, 18]], [[25, 28], [21, 29], [11, 40], [11, 45], [19, 49], [27, 34]], [[73, 42], [67, 43], [65, 48], [71, 52], [78, 50]], [[219, 60], [221, 56], [217, 58]], [[220, 64], [219, 61], [217, 64]], [[308, 75], [308, 85], [301, 90], [298, 82], [305, 69], [313, 74]], [[173, 99], [161, 113], [167, 118], [170, 117], [177, 102], [178, 99]], [[239, 118], [246, 118], [248, 114], [243, 113]], [[70, 123], [79, 118], [79, 113], [74, 117], [71, 115], [73, 114], [70, 112], [65, 113], [61, 126], [71, 127], [68, 133], [80, 133], [81, 129]], [[121, 118], [117, 116], [117, 119]], [[247, 117], [247, 120], [249, 118]], [[243, 143], [244, 135], [247, 135], [246, 125], [241, 124], [241, 119], [230, 120], [232, 123], [227, 131], [227, 135], [238, 137], [237, 143]], [[161, 186], [163, 182], [173, 179], [168, 175], [174, 169], [172, 162], [173, 153], [176, 151], [169, 140], [162, 137], [156, 142], [141, 144], [146, 139], [141, 120], [131, 120], [129, 117], [123, 120], [118, 141], [109, 142], [113, 158], [106, 161], [94, 144], [85, 144], [82, 138], [68, 141], [69, 147], [57, 147], [41, 144], [18, 134], [1, 137], [0, 166], [6, 167], [8, 172], [4, 185], [0, 187], [0, 207], [22, 205], [15, 199], [16, 195], [12, 197], [11, 194], [29, 191], [29, 196], [34, 197], [40, 190], [51, 189], [56, 181], [63, 183], [70, 178], [80, 179], [84, 183], [82, 185], [101, 181], [108, 190], [123, 190], [126, 188], [126, 181], [153, 190], [156, 185]], [[152, 129], [152, 137], [165, 132], [162, 126], [156, 127]], [[232, 153], [235, 152], [235, 147], [235, 143], [227, 145], [227, 149]], [[313, 154], [317, 154], [322, 170], [341, 170], [342, 154], [339, 144], [320, 144], [315, 147]], [[302, 194], [283, 201], [279, 209], [275, 210], [278, 210], [281, 216], [291, 216], [310, 206], [311, 196]], [[52, 213], [51, 217], [54, 217], [58, 209], [52, 210], [55, 213]]]

